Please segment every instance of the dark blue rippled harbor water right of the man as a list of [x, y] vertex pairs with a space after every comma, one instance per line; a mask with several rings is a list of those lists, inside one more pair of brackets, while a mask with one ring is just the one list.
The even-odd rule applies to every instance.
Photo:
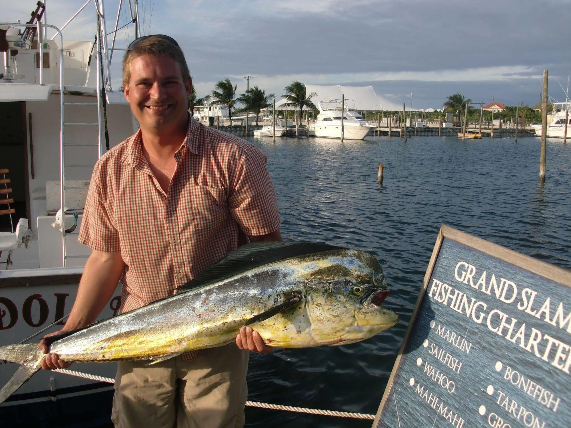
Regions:
[[[268, 155], [286, 240], [371, 252], [401, 315], [357, 344], [252, 355], [248, 398], [375, 414], [441, 224], [571, 270], [571, 144], [540, 139], [249, 138]], [[377, 169], [384, 164], [384, 181]], [[406, 411], [406, 410], [404, 410]], [[370, 427], [372, 421], [247, 407], [248, 427]]]

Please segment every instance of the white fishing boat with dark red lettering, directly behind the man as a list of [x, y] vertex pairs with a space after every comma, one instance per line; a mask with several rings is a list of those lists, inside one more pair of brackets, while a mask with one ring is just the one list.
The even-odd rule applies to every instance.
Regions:
[[[114, 48], [115, 38], [107, 36], [103, 3], [88, 1], [82, 9], [88, 4], [98, 12], [95, 41], [93, 34], [85, 41], [65, 39], [65, 26], [45, 22], [42, 2], [27, 23], [0, 23], [6, 144], [0, 159], [0, 345], [38, 342], [61, 329], [91, 252], [77, 235], [93, 165], [138, 128], [123, 94], [111, 87], [111, 53], [125, 49]], [[100, 318], [119, 308], [120, 286]], [[17, 365], [0, 366], [5, 385]], [[114, 364], [73, 369], [103, 377], [116, 372]], [[102, 425], [111, 395], [109, 383], [41, 370], [2, 403], [0, 419], [7, 426]]]

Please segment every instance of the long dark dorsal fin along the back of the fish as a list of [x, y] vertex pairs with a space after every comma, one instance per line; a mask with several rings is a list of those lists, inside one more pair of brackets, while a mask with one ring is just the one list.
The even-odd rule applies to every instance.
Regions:
[[341, 249], [329, 244], [308, 243], [295, 241], [270, 242], [262, 241], [242, 245], [231, 251], [212, 267], [194, 279], [181, 285], [179, 290], [191, 290], [212, 282], [222, 281], [238, 275], [246, 270], [254, 269], [275, 261], [291, 259], [291, 257], [304, 256], [312, 253]]

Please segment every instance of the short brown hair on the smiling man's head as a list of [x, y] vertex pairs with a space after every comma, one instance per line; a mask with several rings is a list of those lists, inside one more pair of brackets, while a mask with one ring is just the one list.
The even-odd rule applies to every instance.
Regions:
[[190, 71], [182, 49], [163, 38], [151, 35], [137, 43], [133, 49], [128, 50], [123, 56], [123, 88], [129, 87], [132, 61], [142, 55], [170, 56], [179, 64], [183, 82], [187, 83], [190, 80]]

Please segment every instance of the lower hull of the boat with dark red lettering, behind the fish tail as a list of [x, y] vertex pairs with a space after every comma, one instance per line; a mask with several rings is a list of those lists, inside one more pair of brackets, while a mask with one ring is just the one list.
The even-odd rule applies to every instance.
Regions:
[[[78, 278], [82, 267], [48, 269], [14, 269], [0, 272], [0, 346], [17, 344], [46, 326], [68, 314], [77, 293]], [[53, 280], [51, 280], [53, 278]], [[9, 286], [14, 284], [14, 286]], [[26, 286], [27, 284], [37, 284]], [[5, 286], [8, 285], [8, 286]], [[110, 318], [119, 313], [120, 285], [111, 301], [105, 306], [99, 319]], [[46, 332], [30, 339], [29, 343], [62, 328], [55, 325]], [[0, 385], [5, 385], [17, 370], [18, 365], [0, 360]], [[114, 378], [116, 364], [79, 363], [71, 370]], [[66, 374], [40, 370], [24, 383], [6, 402], [0, 405], [0, 415], [18, 413], [19, 408], [30, 405], [48, 405], [55, 399], [81, 395], [112, 394], [112, 385]], [[89, 398], [85, 398], [89, 400]], [[38, 407], [36, 407], [38, 408]]]

